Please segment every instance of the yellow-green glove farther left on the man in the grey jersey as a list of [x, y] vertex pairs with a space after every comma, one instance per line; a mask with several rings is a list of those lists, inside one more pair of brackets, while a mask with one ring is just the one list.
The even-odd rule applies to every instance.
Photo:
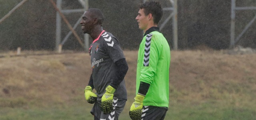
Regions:
[[97, 95], [92, 92], [91, 86], [86, 86], [84, 89], [84, 96], [88, 103], [94, 104], [97, 100]]

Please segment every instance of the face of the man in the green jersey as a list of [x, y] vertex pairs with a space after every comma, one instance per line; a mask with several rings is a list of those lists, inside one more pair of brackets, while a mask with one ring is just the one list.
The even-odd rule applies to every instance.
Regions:
[[136, 20], [138, 22], [139, 28], [141, 30], [146, 30], [148, 26], [148, 16], [145, 15], [144, 9], [139, 10]]

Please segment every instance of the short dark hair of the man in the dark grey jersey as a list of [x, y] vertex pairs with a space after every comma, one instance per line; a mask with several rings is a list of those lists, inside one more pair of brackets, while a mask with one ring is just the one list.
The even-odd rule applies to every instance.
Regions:
[[88, 9], [88, 10], [86, 10], [86, 11], [92, 13], [91, 16], [92, 16], [93, 19], [94, 19], [94, 18], [97, 18], [97, 19], [98, 19], [98, 24], [100, 24], [100, 25], [103, 24], [103, 22], [104, 22], [104, 16], [103, 16], [103, 13], [101, 12], [100, 9], [97, 9], [97, 8], [90, 8], [90, 9]]

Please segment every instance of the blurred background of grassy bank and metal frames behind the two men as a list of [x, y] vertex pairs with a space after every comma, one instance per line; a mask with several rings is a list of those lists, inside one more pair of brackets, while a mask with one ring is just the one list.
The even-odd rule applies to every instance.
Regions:
[[[124, 50], [128, 100], [119, 120], [130, 120], [144, 1], [0, 0], [0, 120], [93, 120], [84, 98], [92, 39], [79, 24], [86, 8], [102, 10], [104, 30]], [[256, 0], [158, 1], [171, 48], [165, 120], [255, 120]]]

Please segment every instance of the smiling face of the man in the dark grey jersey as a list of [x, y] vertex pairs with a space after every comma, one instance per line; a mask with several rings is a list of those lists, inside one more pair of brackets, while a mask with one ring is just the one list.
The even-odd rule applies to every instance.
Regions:
[[82, 30], [84, 31], [84, 34], [85, 33], [90, 34], [92, 32], [94, 24], [93, 24], [93, 19], [91, 17], [90, 12], [88, 11], [84, 12], [80, 24], [81, 24]]

